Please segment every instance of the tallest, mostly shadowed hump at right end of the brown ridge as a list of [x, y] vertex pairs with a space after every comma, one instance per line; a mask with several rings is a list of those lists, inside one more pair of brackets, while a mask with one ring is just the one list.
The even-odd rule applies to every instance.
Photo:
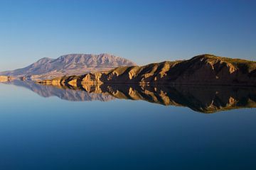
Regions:
[[188, 84], [220, 84], [253, 85], [255, 79], [250, 77], [256, 69], [256, 62], [234, 60], [211, 55], [200, 55], [176, 65], [170, 72], [175, 83]]

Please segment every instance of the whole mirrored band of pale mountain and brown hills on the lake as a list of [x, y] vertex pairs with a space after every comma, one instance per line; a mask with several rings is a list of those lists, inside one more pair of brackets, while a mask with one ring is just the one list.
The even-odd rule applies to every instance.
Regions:
[[110, 101], [115, 98], [143, 100], [164, 106], [186, 106], [201, 113], [237, 108], [256, 108], [256, 88], [230, 86], [136, 86], [118, 84], [82, 84], [46, 86], [32, 81], [11, 81], [40, 96], [68, 101]]

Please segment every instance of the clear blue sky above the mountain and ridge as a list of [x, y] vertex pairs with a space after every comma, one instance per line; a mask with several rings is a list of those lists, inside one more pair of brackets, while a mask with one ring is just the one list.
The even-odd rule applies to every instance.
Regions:
[[0, 1], [0, 71], [102, 52], [137, 64], [203, 53], [256, 60], [256, 1]]

